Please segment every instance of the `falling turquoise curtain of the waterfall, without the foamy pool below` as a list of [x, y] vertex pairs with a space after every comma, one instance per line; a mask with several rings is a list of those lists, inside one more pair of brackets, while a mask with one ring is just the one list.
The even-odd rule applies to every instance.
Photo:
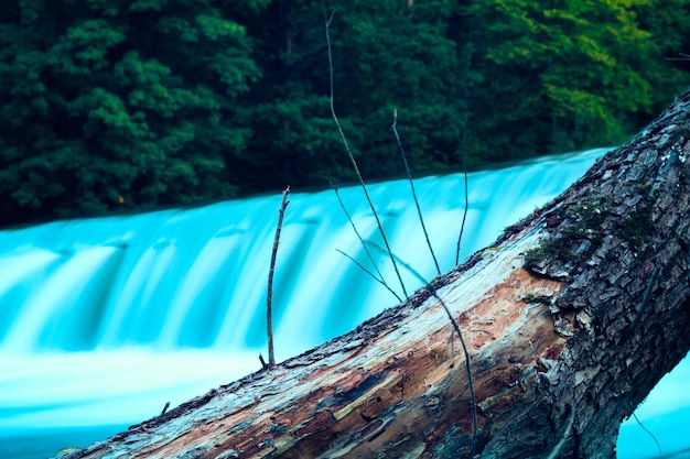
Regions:
[[[558, 195], [602, 153], [471, 174], [463, 255]], [[463, 181], [455, 174], [416, 183], [443, 270], [455, 261]], [[381, 243], [362, 189], [339, 193], [362, 236]], [[433, 278], [433, 259], [407, 181], [371, 185], [370, 194], [395, 253]], [[276, 195], [1, 231], [0, 350], [263, 348], [267, 273], [280, 199]], [[398, 303], [338, 252], [368, 265], [333, 190], [298, 193], [290, 200], [274, 285], [276, 341], [282, 358]], [[401, 295], [387, 256], [375, 255], [384, 277]], [[412, 273], [402, 272], [402, 277], [408, 291], [420, 286]]]

